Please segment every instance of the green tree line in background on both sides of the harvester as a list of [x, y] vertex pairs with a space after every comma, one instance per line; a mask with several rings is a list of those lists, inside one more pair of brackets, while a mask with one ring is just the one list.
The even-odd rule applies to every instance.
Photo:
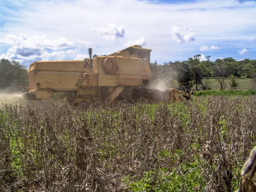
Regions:
[[[226, 80], [230, 79], [231, 88], [237, 87], [238, 78], [256, 79], [256, 60], [243, 59], [236, 61], [232, 57], [218, 58], [215, 61], [206, 56], [207, 61], [201, 61], [201, 55], [188, 58], [187, 61], [170, 61], [163, 65], [151, 63], [152, 80], [177, 79], [179, 86], [199, 87], [209, 89], [209, 79], [214, 78], [219, 82], [221, 90], [225, 89]], [[0, 90], [7, 87], [18, 88], [28, 85], [28, 75], [25, 66], [15, 60], [0, 60]]]

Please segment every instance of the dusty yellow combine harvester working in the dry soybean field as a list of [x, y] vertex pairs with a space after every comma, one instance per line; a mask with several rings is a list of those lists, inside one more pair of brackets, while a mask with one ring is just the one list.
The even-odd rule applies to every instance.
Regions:
[[180, 101], [184, 87], [160, 91], [148, 89], [151, 80], [151, 49], [133, 45], [108, 56], [94, 55], [76, 61], [35, 61], [29, 66], [29, 87], [23, 95], [31, 100], [49, 99], [52, 92], [62, 92], [67, 103], [114, 100], [151, 101], [167, 98]]

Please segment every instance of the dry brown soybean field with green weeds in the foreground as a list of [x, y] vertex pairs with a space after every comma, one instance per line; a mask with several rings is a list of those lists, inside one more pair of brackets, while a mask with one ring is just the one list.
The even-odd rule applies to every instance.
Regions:
[[234, 191], [255, 145], [255, 104], [4, 105], [0, 191]]

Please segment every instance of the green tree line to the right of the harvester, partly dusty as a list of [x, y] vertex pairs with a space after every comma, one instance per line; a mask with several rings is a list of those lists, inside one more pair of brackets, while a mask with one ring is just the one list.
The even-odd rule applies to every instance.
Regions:
[[215, 61], [206, 56], [206, 61], [201, 61], [201, 55], [195, 55], [187, 61], [170, 61], [163, 65], [151, 63], [152, 79], [177, 79], [179, 86], [199, 87], [203, 90], [210, 89], [209, 79], [215, 79], [220, 84], [220, 89], [226, 87], [226, 80], [230, 79], [230, 86], [238, 86], [238, 78], [256, 78], [256, 60], [243, 59], [237, 61], [232, 57], [218, 58]]

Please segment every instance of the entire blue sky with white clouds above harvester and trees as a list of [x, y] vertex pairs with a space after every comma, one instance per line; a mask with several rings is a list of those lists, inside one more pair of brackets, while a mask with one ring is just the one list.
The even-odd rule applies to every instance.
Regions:
[[151, 62], [202, 54], [256, 59], [256, 0], [1, 0], [0, 58], [108, 55], [132, 44]]

